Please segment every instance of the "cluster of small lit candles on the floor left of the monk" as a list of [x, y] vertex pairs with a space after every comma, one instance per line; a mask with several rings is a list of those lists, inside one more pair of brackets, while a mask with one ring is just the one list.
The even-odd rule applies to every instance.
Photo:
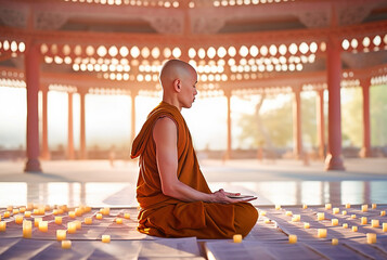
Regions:
[[[3, 218], [10, 218], [11, 212], [13, 214], [17, 213], [24, 213], [24, 216], [14, 216], [14, 221], [16, 224], [23, 224], [23, 237], [24, 238], [31, 238], [33, 236], [33, 221], [26, 220], [24, 218], [30, 218], [31, 217], [31, 211], [27, 211], [26, 207], [21, 207], [18, 209], [13, 209], [12, 206], [8, 207], [8, 210], [4, 212]], [[44, 208], [37, 208], [37, 210], [34, 209], [34, 214], [44, 214], [47, 210], [50, 210], [48, 206]], [[66, 205], [61, 206], [57, 209], [53, 209], [53, 214], [62, 214], [64, 211], [68, 211], [68, 208]], [[85, 212], [91, 211], [90, 207], [79, 207], [75, 208], [73, 211], [68, 211], [68, 217], [75, 219], [76, 217], [81, 217]], [[100, 209], [100, 212], [95, 214], [95, 219], [102, 220], [103, 216], [109, 216], [109, 208], [102, 208]], [[54, 218], [55, 224], [62, 224], [62, 218], [56, 216]], [[128, 212], [124, 213], [125, 219], [130, 219], [130, 214]], [[0, 216], [1, 220], [1, 216]], [[122, 218], [116, 218], [115, 222], [117, 224], [122, 224]], [[77, 230], [81, 229], [81, 221], [80, 220], [75, 220], [72, 222], [67, 223], [67, 230], [56, 230], [56, 239], [62, 243], [62, 248], [68, 249], [72, 247], [72, 242], [66, 240], [66, 234], [74, 234], [76, 233]], [[87, 217], [83, 219], [85, 224], [92, 224], [92, 218]], [[43, 221], [42, 218], [34, 217], [34, 226], [38, 227], [40, 232], [48, 232], [48, 221]], [[7, 231], [7, 222], [5, 221], [0, 221], [0, 232]], [[109, 243], [111, 242], [111, 236], [109, 235], [102, 235], [101, 240], [103, 243]]]

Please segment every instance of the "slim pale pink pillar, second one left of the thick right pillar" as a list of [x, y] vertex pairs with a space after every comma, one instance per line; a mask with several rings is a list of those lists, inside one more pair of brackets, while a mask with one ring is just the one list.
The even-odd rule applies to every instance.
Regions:
[[302, 156], [302, 130], [301, 130], [301, 96], [300, 88], [293, 88], [293, 154], [296, 159]]

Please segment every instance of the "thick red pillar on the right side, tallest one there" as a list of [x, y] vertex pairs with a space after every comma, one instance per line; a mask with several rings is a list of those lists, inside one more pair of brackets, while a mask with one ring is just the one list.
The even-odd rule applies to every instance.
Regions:
[[325, 158], [325, 170], [345, 170], [341, 157], [341, 58], [339, 39], [336, 39], [334, 36], [328, 36], [326, 52], [328, 89], [328, 151]]

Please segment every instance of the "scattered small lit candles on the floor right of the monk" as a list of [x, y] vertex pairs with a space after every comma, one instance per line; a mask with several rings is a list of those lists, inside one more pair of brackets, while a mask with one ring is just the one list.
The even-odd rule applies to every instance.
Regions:
[[[350, 204], [346, 204], [345, 207], [347, 209], [351, 208], [351, 205]], [[302, 209], [307, 209], [308, 206], [307, 205], [302, 205]], [[376, 209], [377, 208], [377, 205], [376, 204], [372, 204], [372, 209]], [[275, 205], [275, 210], [280, 210], [282, 209], [281, 205]], [[330, 210], [332, 209], [333, 211], [333, 214], [338, 214], [339, 213], [339, 208], [332, 208], [332, 204], [325, 204], [325, 209], [326, 210]], [[362, 205], [361, 206], [361, 211], [362, 212], [366, 212], [369, 211], [369, 206], [367, 205]], [[261, 211], [260, 212], [261, 216], [266, 216], [266, 211]], [[292, 217], [292, 222], [299, 222], [300, 221], [300, 214], [293, 214], [292, 211], [285, 211], [285, 214], [288, 216], [288, 217]], [[343, 216], [346, 216], [347, 214], [347, 211], [346, 210], [343, 210], [341, 211], [341, 214]], [[380, 211], [380, 216], [386, 216], [386, 211], [385, 210], [382, 210]], [[325, 220], [325, 213], [324, 212], [318, 212], [317, 214], [318, 217], [318, 221], [322, 221], [322, 220]], [[357, 216], [356, 214], [351, 214], [351, 219], [356, 219]], [[270, 219], [266, 219], [265, 220], [266, 223], [270, 223]], [[338, 225], [338, 219], [332, 219], [331, 220], [331, 223], [332, 225]], [[367, 218], [366, 217], [361, 217], [360, 218], [360, 223], [362, 225], [365, 225], [367, 224]], [[371, 220], [371, 226], [372, 227], [379, 227], [380, 226], [380, 223], [379, 223], [379, 220]], [[343, 227], [344, 229], [348, 229], [348, 223], [343, 223]], [[310, 229], [310, 223], [309, 222], [305, 222], [304, 223], [304, 229]], [[382, 224], [382, 229], [383, 229], [383, 232], [387, 232], [387, 223], [383, 223]], [[358, 232], [358, 226], [353, 225], [352, 226], [352, 231], [353, 232]], [[318, 234], [317, 236], [319, 238], [326, 238], [326, 234], [327, 234], [327, 230], [326, 229], [318, 229]], [[366, 233], [366, 242], [369, 244], [374, 244], [376, 243], [376, 234], [375, 233]], [[234, 236], [234, 243], [240, 243], [238, 240], [238, 237]], [[297, 243], [297, 235], [294, 235], [294, 234], [289, 234], [288, 235], [288, 243], [289, 244], [295, 244]], [[332, 238], [332, 245], [338, 245], [338, 239], [337, 238]]]

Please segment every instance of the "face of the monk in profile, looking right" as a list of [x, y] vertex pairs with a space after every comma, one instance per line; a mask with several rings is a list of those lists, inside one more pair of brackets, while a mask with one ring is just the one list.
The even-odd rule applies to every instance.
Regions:
[[190, 108], [195, 101], [197, 74], [194, 69], [190, 70], [181, 78], [181, 92], [179, 93], [179, 101], [181, 107]]

